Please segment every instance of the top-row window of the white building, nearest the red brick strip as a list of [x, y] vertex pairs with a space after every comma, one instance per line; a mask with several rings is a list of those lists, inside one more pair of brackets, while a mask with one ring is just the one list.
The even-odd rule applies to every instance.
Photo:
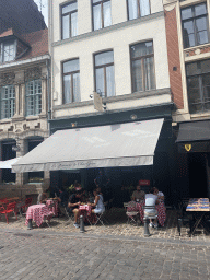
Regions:
[[150, 14], [150, 0], [127, 0], [128, 20]]

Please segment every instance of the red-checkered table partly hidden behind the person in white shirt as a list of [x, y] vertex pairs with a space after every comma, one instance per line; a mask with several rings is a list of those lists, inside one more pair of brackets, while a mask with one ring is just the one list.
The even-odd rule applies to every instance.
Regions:
[[[143, 218], [144, 218], [144, 207], [145, 201], [142, 200], [141, 202], [136, 202], [136, 207], [135, 208], [129, 208], [128, 207], [128, 212], [129, 211], [138, 211], [140, 214], [140, 220], [143, 223]], [[166, 219], [166, 213], [165, 213], [165, 205], [163, 201], [161, 201], [159, 205], [155, 206], [156, 207], [156, 211], [158, 211], [158, 221], [159, 224], [161, 226], [164, 226], [165, 223], [165, 219]]]

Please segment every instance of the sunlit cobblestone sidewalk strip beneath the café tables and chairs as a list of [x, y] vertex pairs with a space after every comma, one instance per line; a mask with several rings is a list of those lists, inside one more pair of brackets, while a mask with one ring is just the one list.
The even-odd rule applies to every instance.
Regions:
[[[159, 230], [150, 229], [152, 236], [150, 238], [164, 238], [164, 240], [182, 240], [182, 241], [207, 241], [210, 242], [210, 234], [203, 232], [199, 229], [196, 234], [191, 237], [188, 236], [189, 228], [182, 228], [182, 236], [178, 235], [177, 225], [176, 225], [176, 212], [174, 210], [170, 210], [166, 212], [166, 223], [164, 228], [160, 228]], [[125, 214], [124, 209], [112, 208], [108, 211], [106, 217], [109, 221], [109, 224], [105, 224], [105, 226], [85, 226], [88, 234], [96, 234], [96, 235], [112, 235], [112, 236], [137, 236], [143, 237], [144, 229], [141, 224], [140, 226], [133, 224], [127, 224], [127, 217]], [[10, 217], [10, 223], [5, 223], [5, 219], [2, 215], [2, 220], [0, 220], [0, 229], [15, 229], [15, 230], [25, 230], [25, 219], [20, 218], [15, 219], [15, 217]], [[67, 221], [66, 218], [52, 218], [50, 222], [50, 228], [47, 224], [43, 224], [40, 228], [34, 225], [35, 232], [39, 231], [46, 232], [67, 232], [67, 233], [77, 233], [80, 230], [73, 226], [73, 222]]]

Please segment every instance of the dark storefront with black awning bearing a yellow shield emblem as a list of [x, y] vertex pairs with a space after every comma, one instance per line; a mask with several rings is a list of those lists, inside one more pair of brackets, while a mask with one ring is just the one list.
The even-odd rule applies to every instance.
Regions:
[[176, 143], [180, 188], [186, 197], [210, 198], [210, 120], [179, 124]]

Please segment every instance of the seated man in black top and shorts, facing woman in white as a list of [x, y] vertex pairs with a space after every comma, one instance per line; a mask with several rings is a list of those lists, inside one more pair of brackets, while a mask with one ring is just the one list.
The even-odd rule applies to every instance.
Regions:
[[75, 194], [71, 195], [68, 201], [67, 211], [74, 214], [74, 226], [80, 228], [78, 223], [79, 219], [79, 206], [81, 205], [81, 189], [75, 190]]

